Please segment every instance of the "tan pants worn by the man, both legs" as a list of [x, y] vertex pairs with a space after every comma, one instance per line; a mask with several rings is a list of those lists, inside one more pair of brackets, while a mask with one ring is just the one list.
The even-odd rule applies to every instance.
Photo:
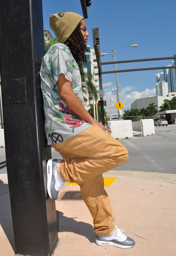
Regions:
[[59, 176], [63, 181], [80, 186], [82, 198], [94, 219], [94, 232], [99, 236], [113, 234], [114, 217], [102, 173], [126, 162], [127, 149], [97, 126], [90, 126], [73, 138], [52, 146], [63, 157], [57, 167]]

